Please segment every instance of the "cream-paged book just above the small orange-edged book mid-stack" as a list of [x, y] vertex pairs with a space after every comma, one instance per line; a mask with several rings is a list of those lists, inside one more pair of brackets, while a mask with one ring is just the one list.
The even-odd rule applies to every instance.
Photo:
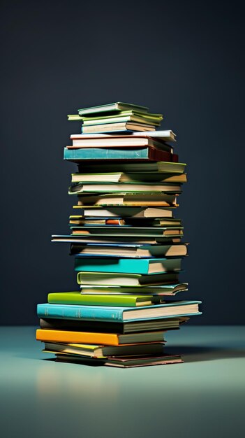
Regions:
[[107, 217], [107, 218], [172, 218], [171, 207], [138, 207], [138, 206], [73, 206], [84, 217]]

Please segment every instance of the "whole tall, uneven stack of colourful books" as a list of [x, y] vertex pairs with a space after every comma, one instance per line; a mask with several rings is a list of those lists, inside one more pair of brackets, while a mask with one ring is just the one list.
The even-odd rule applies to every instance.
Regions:
[[[36, 338], [59, 361], [113, 367], [183, 362], [165, 352], [165, 332], [199, 315], [200, 301], [171, 299], [187, 254], [174, 217], [186, 164], [172, 131], [156, 131], [161, 114], [132, 104], [96, 106], [68, 115], [82, 120], [64, 159], [78, 164], [70, 243], [80, 290], [52, 292], [38, 304]], [[105, 134], [107, 132], [107, 134]]]

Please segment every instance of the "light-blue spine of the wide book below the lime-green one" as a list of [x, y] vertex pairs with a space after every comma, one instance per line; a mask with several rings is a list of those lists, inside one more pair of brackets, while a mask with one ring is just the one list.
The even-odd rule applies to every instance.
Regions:
[[123, 310], [111, 307], [78, 306], [75, 304], [38, 304], [39, 318], [73, 320], [123, 321]]

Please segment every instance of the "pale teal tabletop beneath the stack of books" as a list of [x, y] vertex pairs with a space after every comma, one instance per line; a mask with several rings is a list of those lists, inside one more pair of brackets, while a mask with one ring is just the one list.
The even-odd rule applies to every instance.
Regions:
[[184, 364], [60, 363], [35, 327], [0, 327], [1, 437], [244, 437], [245, 327], [166, 334]]

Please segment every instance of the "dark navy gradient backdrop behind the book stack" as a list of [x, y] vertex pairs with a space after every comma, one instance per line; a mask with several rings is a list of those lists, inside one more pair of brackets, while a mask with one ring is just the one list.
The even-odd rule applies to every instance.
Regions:
[[188, 163], [179, 213], [195, 324], [244, 323], [244, 10], [240, 1], [1, 2], [1, 324], [34, 325], [47, 292], [77, 288], [63, 162], [77, 108], [163, 113]]

